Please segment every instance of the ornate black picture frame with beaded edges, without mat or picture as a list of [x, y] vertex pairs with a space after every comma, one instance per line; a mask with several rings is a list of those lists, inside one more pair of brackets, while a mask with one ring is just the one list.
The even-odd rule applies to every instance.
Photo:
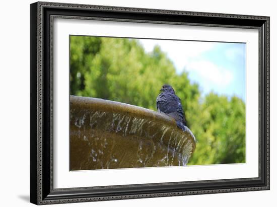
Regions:
[[[99, 19], [257, 29], [259, 176], [116, 186], [53, 188], [53, 19]], [[269, 189], [269, 17], [38, 2], [30, 5], [30, 201], [35, 204]]]

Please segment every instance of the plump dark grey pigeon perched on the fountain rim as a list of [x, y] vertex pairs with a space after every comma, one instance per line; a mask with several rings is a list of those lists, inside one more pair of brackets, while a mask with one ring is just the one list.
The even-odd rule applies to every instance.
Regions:
[[163, 85], [161, 91], [162, 93], [156, 100], [158, 112], [174, 118], [177, 126], [185, 131], [186, 120], [180, 98], [176, 96], [174, 89], [168, 84]]

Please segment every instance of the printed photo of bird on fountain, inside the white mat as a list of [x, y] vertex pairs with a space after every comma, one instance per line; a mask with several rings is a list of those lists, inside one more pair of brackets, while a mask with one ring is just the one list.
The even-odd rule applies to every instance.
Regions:
[[70, 170], [246, 163], [246, 44], [70, 35]]

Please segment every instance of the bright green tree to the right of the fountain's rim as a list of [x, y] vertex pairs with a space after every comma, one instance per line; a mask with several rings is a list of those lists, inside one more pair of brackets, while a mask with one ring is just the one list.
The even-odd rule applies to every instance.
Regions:
[[245, 162], [245, 104], [237, 97], [210, 93], [192, 116], [191, 130], [198, 139], [190, 165]]

